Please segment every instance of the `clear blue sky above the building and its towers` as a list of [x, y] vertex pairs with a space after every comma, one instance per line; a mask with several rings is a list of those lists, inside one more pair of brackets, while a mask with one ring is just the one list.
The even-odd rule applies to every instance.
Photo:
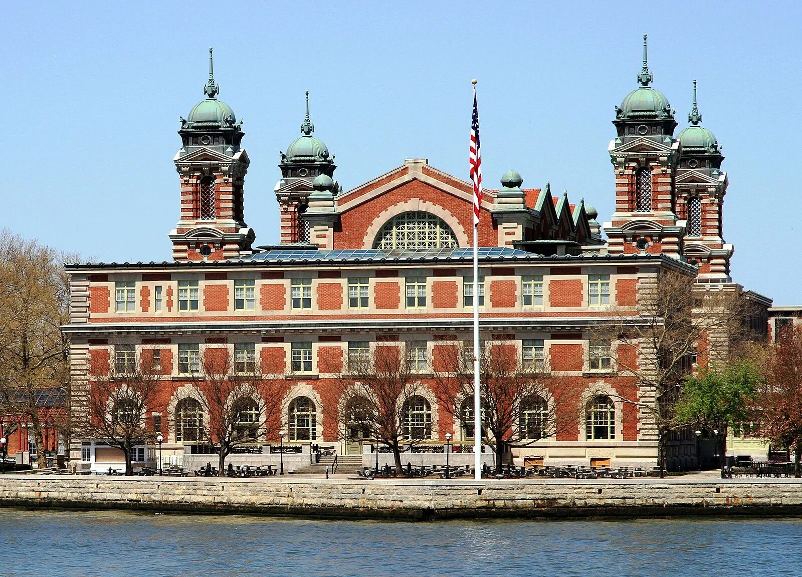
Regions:
[[244, 119], [257, 244], [278, 239], [278, 152], [299, 134], [305, 90], [347, 189], [406, 158], [467, 178], [474, 77], [486, 186], [514, 168], [608, 220], [610, 121], [647, 33], [678, 131], [696, 78], [703, 125], [723, 145], [734, 279], [802, 303], [800, 5], [555, 4], [9, 2], [0, 227], [84, 258], [170, 258], [178, 117], [203, 98], [209, 46], [220, 98]]

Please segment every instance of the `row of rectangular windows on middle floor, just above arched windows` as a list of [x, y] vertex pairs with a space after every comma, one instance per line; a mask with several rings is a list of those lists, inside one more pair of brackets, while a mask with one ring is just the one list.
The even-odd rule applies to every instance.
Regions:
[[[417, 373], [427, 371], [429, 353], [427, 341], [406, 341], [407, 365]], [[612, 353], [609, 341], [590, 341], [588, 347], [589, 369], [610, 370]], [[201, 349], [197, 344], [178, 345], [178, 372], [192, 374], [201, 372]], [[464, 362], [470, 365], [474, 360], [473, 346], [465, 345]], [[369, 341], [348, 342], [348, 367], [350, 370], [364, 369], [370, 361]], [[545, 341], [525, 339], [521, 341], [521, 361], [525, 369], [537, 369], [545, 361]], [[290, 344], [290, 365], [294, 373], [312, 371], [312, 343], [309, 341]], [[234, 345], [234, 373], [253, 373], [256, 371], [256, 344], [236, 343]], [[152, 369], [161, 370], [161, 351], [152, 349]], [[115, 345], [115, 372], [132, 374], [136, 372], [136, 345]]]

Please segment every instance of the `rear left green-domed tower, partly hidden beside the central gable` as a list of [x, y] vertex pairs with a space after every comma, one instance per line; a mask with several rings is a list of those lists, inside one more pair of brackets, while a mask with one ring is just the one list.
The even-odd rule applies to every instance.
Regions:
[[294, 139], [278, 167], [282, 180], [274, 188], [282, 213], [282, 244], [310, 242], [310, 222], [305, 218], [310, 195], [318, 176], [331, 180], [330, 192], [337, 195], [339, 185], [334, 180], [334, 156], [321, 139], [313, 136], [314, 124], [309, 116], [309, 91], [306, 91], [306, 116], [301, 123], [301, 135]]

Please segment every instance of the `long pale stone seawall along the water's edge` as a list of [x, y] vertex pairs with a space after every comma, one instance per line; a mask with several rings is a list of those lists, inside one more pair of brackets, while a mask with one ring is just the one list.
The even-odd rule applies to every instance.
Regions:
[[345, 481], [2, 475], [0, 506], [337, 518], [577, 518], [802, 514], [802, 482], [775, 480]]

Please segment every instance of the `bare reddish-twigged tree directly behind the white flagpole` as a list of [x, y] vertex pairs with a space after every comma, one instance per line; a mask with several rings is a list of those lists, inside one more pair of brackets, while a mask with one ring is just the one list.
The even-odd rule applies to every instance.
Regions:
[[[438, 345], [432, 362], [439, 405], [476, 434], [472, 347]], [[480, 350], [481, 434], [492, 440], [496, 470], [507, 447], [529, 446], [576, 428], [579, 392], [552, 377], [540, 354], [519, 355], [515, 345], [498, 343]]]

